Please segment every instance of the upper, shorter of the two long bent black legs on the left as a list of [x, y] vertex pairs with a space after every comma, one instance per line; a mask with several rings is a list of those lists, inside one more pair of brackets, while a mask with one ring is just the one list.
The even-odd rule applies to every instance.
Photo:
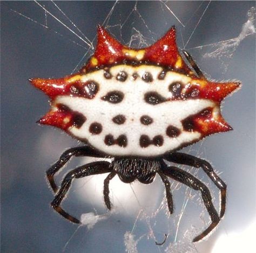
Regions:
[[54, 181], [54, 175], [62, 168], [72, 156], [92, 156], [92, 157], [100, 157], [99, 152], [96, 150], [93, 150], [89, 146], [82, 146], [82, 147], [72, 147], [72, 149], [66, 150], [59, 158], [58, 161], [56, 161], [55, 164], [53, 164], [47, 171], [46, 171], [46, 177], [48, 178], [48, 181], [50, 183], [51, 188], [53, 189], [53, 192], [58, 191], [58, 187], [55, 184]]

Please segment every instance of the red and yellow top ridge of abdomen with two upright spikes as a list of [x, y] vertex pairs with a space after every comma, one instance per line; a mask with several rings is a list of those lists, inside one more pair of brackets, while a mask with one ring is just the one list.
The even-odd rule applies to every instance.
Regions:
[[119, 43], [100, 25], [98, 26], [98, 42], [95, 53], [85, 67], [80, 70], [80, 73], [86, 73], [100, 65], [118, 64], [123, 60], [152, 62], [152, 64], [178, 68], [185, 74], [192, 74], [179, 54], [174, 26], [152, 46], [135, 49]]

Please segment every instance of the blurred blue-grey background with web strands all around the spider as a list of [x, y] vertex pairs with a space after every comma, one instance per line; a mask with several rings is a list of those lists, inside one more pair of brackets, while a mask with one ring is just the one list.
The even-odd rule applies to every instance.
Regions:
[[[2, 252], [255, 252], [255, 5], [254, 1], [1, 1], [1, 251]], [[45, 171], [69, 147], [82, 145], [60, 130], [38, 126], [48, 97], [28, 78], [60, 78], [93, 53], [102, 24], [123, 44], [145, 47], [176, 25], [177, 43], [207, 78], [240, 80], [223, 115], [234, 131], [183, 151], [211, 162], [227, 184], [227, 209], [217, 230], [192, 238], [209, 217], [198, 192], [172, 183], [175, 210], [166, 215], [164, 186], [110, 184], [114, 212], [103, 203], [104, 177], [73, 182], [65, 210], [93, 212], [95, 226], [78, 227], [50, 207]], [[57, 177], [88, 163], [74, 158]], [[217, 189], [200, 170], [190, 169]], [[167, 240], [162, 246], [164, 234]], [[254, 248], [253, 248], [254, 247]]]

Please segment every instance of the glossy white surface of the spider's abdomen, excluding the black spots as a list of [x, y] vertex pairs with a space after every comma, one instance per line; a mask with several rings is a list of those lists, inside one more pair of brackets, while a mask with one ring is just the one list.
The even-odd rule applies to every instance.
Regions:
[[[120, 71], [127, 73], [127, 79], [124, 82], [116, 80], [116, 75]], [[82, 76], [83, 82], [93, 80], [98, 83], [99, 91], [94, 99], [58, 96], [54, 104], [65, 104], [71, 110], [78, 111], [86, 117], [86, 122], [79, 129], [71, 127], [69, 131], [78, 139], [86, 139], [96, 149], [118, 156], [158, 156], [177, 149], [185, 143], [200, 139], [201, 134], [199, 132], [183, 130], [181, 121], [186, 117], [197, 114], [207, 107], [215, 107], [215, 113], [219, 113], [215, 103], [207, 99], [166, 101], [154, 105], [146, 103], [144, 95], [147, 92], [157, 92], [164, 98], [171, 99], [172, 94], [169, 92], [169, 85], [172, 82], [179, 81], [186, 85], [191, 81], [188, 76], [171, 71], [166, 73], [164, 80], [159, 80], [158, 75], [161, 71], [162, 68], [156, 66], [118, 65], [110, 69], [113, 77], [105, 79], [104, 70], [101, 69]], [[145, 72], [152, 74], [152, 82], [142, 80], [141, 77]], [[132, 78], [133, 73], [138, 74], [136, 80]], [[113, 104], [102, 100], [102, 97], [111, 91], [122, 92], [124, 94], [122, 102]], [[112, 121], [112, 118], [119, 114], [126, 117], [126, 121], [122, 125]], [[140, 122], [140, 117], [143, 115], [153, 118], [153, 123], [143, 125]], [[98, 135], [92, 135], [89, 132], [89, 127], [93, 122], [98, 122], [103, 126], [102, 132]], [[177, 138], [170, 138], [166, 135], [166, 128], [169, 125], [175, 126], [181, 131]], [[113, 135], [114, 139], [120, 135], [126, 135], [127, 146], [120, 147], [117, 144], [107, 146], [104, 139], [109, 134]], [[147, 147], [141, 147], [139, 139], [142, 135], [147, 135], [150, 139], [161, 135], [164, 138], [164, 143], [162, 146], [151, 144]]]

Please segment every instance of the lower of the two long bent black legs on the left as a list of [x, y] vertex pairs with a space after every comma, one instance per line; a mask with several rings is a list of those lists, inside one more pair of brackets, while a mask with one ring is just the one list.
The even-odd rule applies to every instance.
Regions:
[[111, 172], [110, 163], [107, 161], [95, 161], [93, 163], [89, 163], [80, 167], [75, 168], [75, 170], [70, 171], [68, 174], [65, 175], [65, 178], [62, 181], [62, 185], [55, 195], [55, 198], [51, 202], [51, 206], [53, 209], [56, 210], [60, 215], [64, 218], [70, 220], [74, 223], [80, 223], [78, 219], [66, 213], [62, 207], [60, 207], [60, 203], [65, 198], [66, 193], [68, 192], [72, 180], [74, 178], [83, 178], [87, 175], [95, 175], [95, 174], [102, 174]]

